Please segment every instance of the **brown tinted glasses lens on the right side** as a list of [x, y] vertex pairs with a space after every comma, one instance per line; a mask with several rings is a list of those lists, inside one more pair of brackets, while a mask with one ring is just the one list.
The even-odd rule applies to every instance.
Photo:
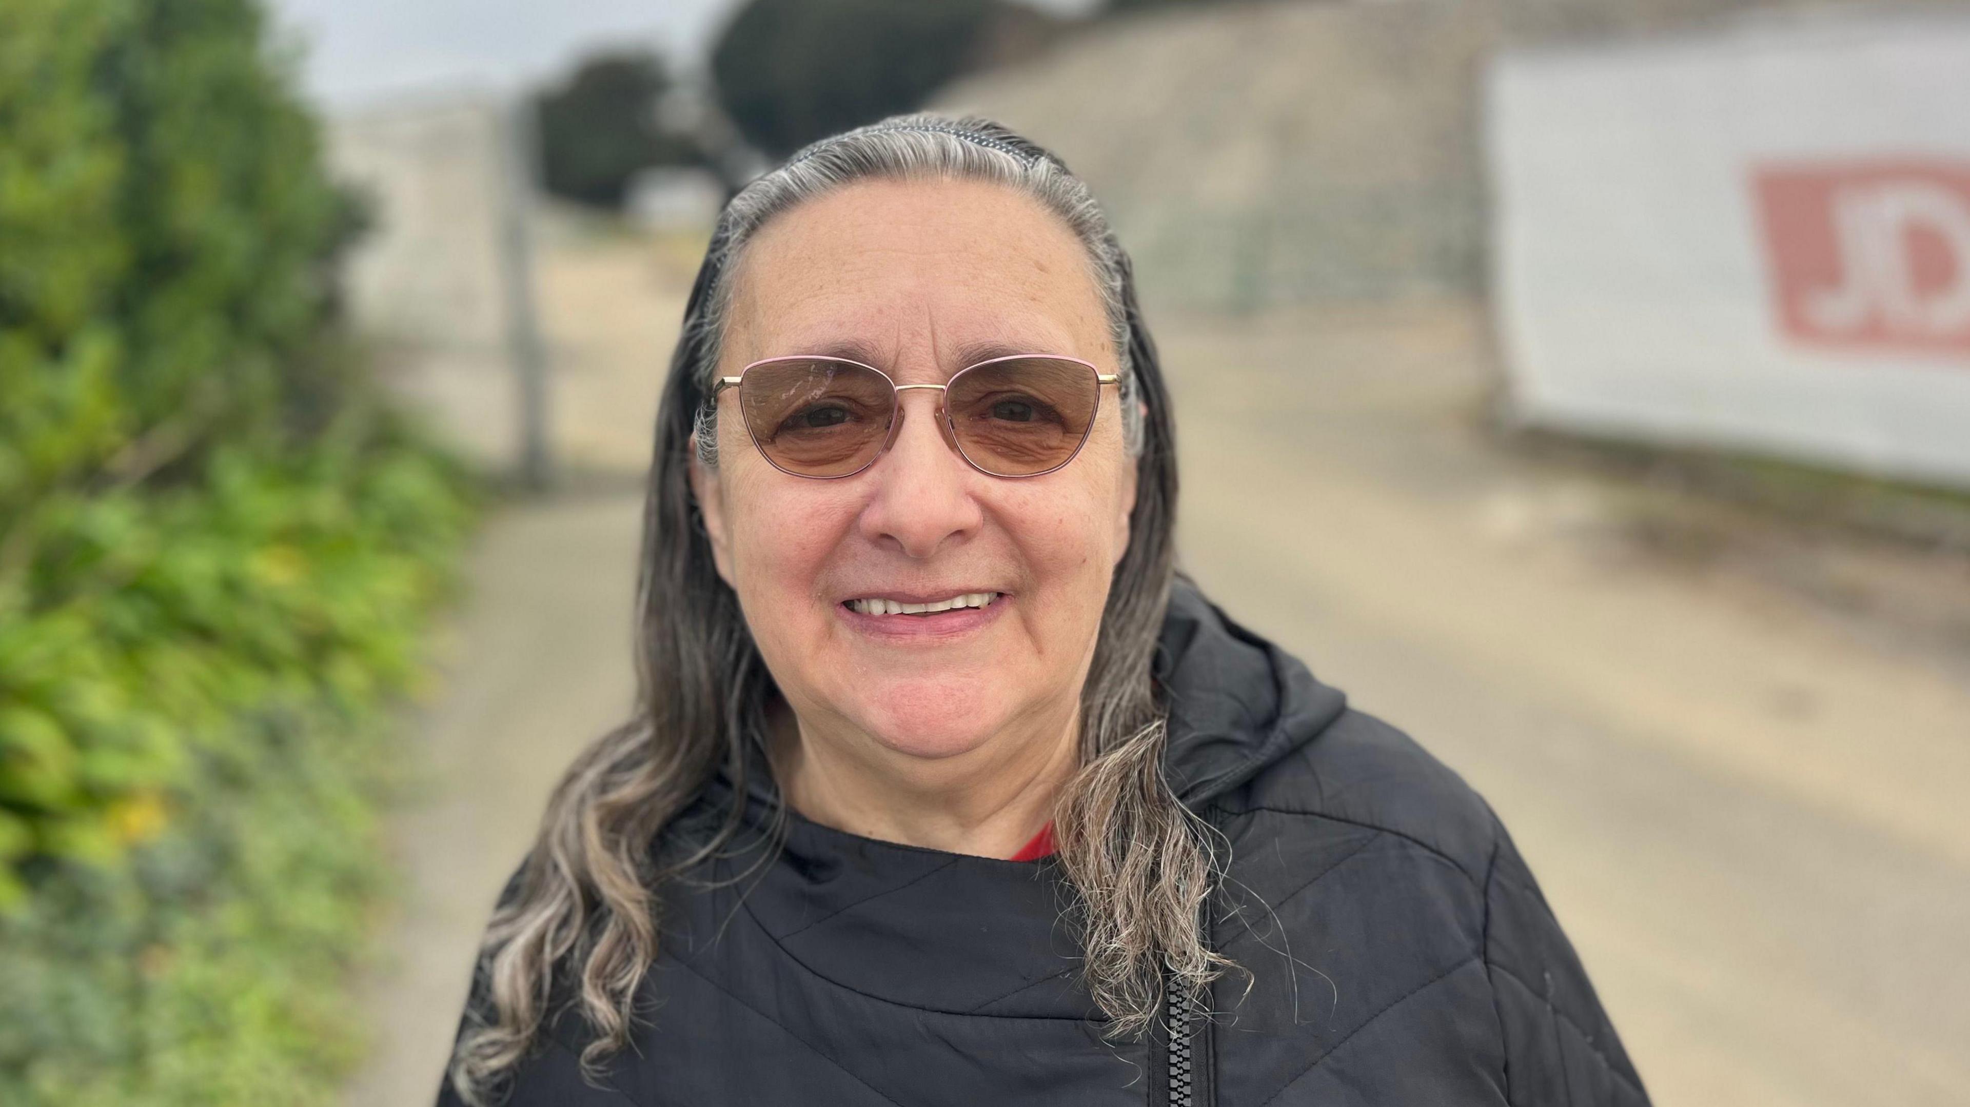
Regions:
[[999, 477], [1058, 469], [1087, 441], [1101, 402], [1095, 370], [1076, 360], [1022, 357], [952, 378], [944, 408], [957, 447]]

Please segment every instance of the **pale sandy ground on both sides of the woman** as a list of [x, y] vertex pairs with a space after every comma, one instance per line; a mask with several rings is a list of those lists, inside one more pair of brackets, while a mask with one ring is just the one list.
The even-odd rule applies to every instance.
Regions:
[[[556, 427], [585, 469], [646, 457], [678, 311], [658, 254], [548, 250]], [[1491, 800], [1657, 1103], [1970, 1103], [1970, 559], [1633, 540], [1631, 488], [1481, 429], [1466, 305], [1158, 337], [1186, 569]], [[431, 1101], [485, 912], [626, 711], [636, 512], [628, 487], [563, 494], [481, 540], [351, 1105]]]

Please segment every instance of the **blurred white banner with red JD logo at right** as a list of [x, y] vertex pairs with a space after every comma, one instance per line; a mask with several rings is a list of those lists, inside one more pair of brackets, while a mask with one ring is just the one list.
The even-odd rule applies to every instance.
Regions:
[[1970, 485], [1970, 20], [1507, 53], [1487, 138], [1527, 420]]

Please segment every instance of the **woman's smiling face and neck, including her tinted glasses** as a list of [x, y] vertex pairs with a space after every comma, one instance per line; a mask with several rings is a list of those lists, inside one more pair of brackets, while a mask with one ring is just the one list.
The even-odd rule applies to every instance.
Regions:
[[[691, 487], [798, 719], [776, 776], [810, 819], [983, 857], [1048, 819], [1137, 483], [1089, 278], [1058, 219], [991, 181], [855, 181], [749, 242], [721, 343], [745, 425], [719, 420]], [[890, 372], [802, 357], [849, 341]], [[983, 343], [1046, 355], [953, 358]], [[731, 449], [747, 429], [758, 449]], [[790, 481], [788, 453], [859, 479]]]

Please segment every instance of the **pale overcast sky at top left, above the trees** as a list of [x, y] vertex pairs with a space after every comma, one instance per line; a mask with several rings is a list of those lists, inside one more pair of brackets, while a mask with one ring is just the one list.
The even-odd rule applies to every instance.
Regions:
[[[0, 0], [4, 2], [4, 0]], [[936, 0], [924, 0], [926, 4]], [[1099, 0], [1020, 0], [1087, 10]], [[305, 47], [303, 83], [327, 108], [457, 87], [508, 89], [605, 43], [703, 53], [737, 0], [268, 0]]]

